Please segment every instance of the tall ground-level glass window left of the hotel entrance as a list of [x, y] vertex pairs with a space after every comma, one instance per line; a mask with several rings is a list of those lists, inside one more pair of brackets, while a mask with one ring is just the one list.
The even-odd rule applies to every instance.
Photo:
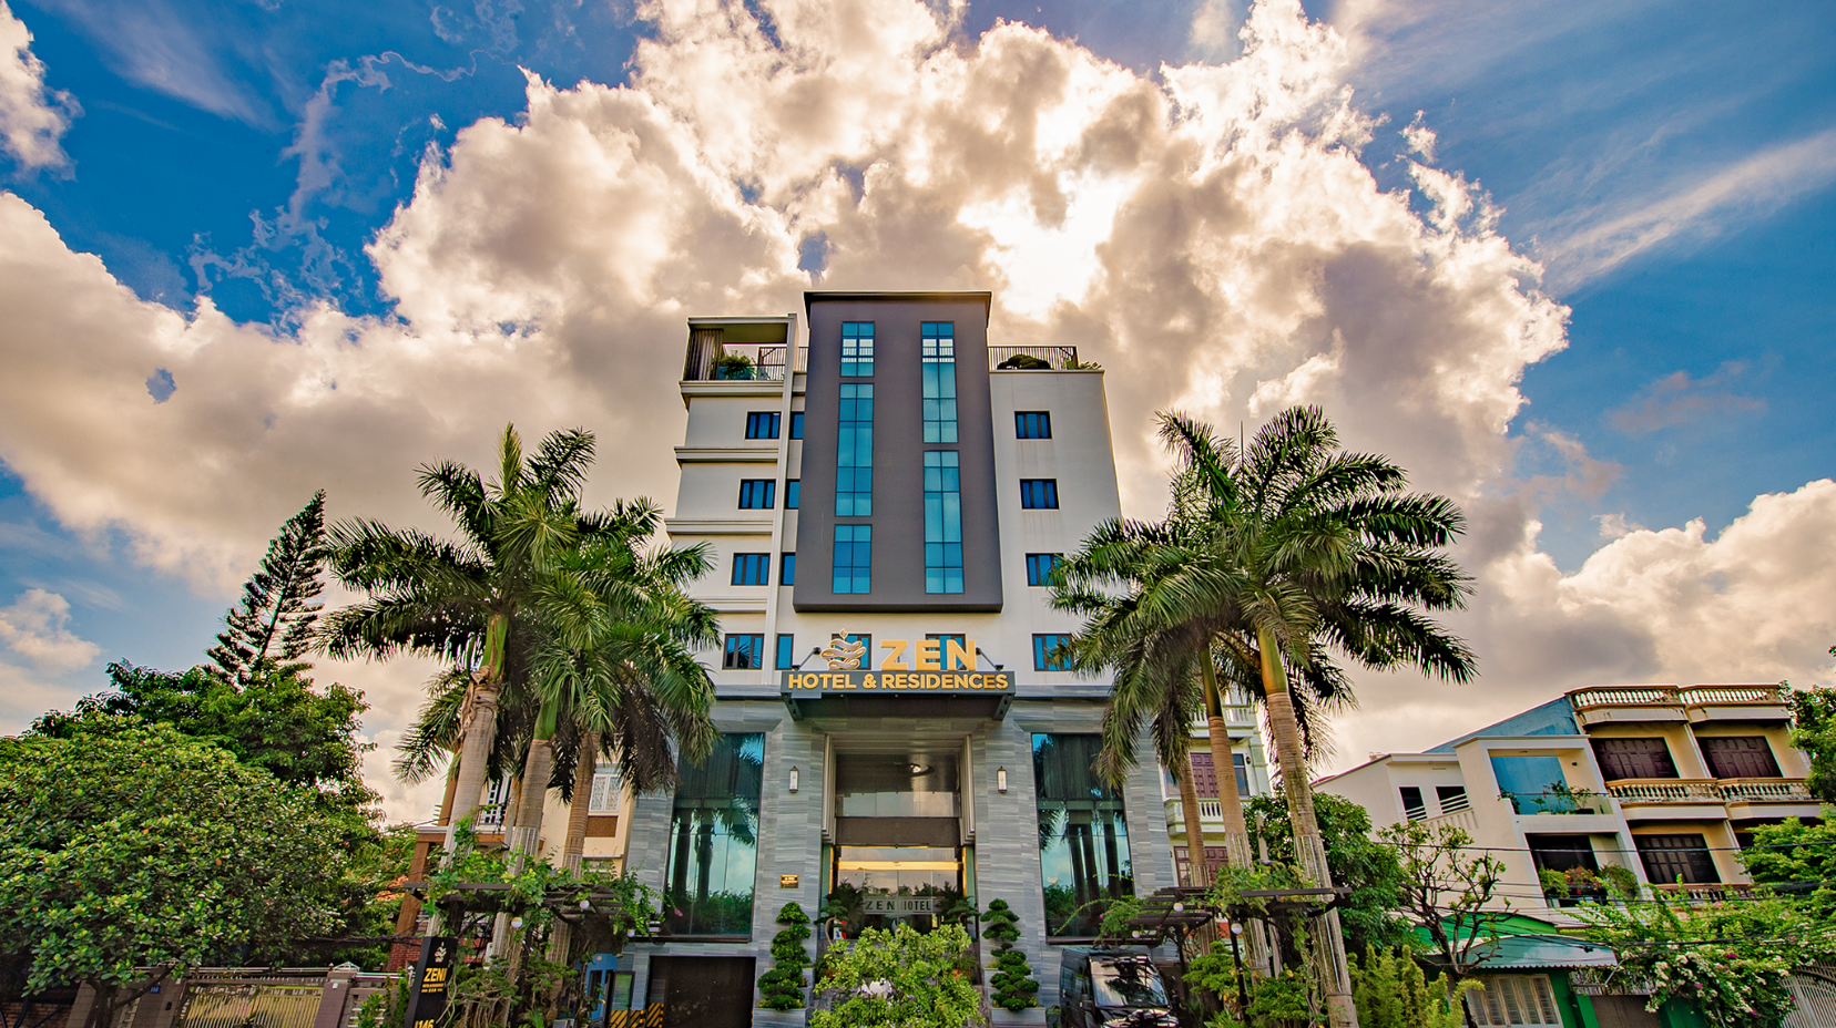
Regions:
[[677, 762], [663, 879], [668, 934], [751, 938], [764, 771], [760, 732], [722, 734], [701, 764]]

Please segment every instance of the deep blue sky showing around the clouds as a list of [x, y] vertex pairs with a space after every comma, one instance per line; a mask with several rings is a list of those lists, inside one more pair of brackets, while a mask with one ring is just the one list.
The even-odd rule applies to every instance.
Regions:
[[[1524, 360], [1518, 387], [1528, 404], [1496, 433], [1496, 457], [1487, 459], [1502, 466], [1474, 479], [1476, 503], [1511, 497], [1522, 518], [1542, 525], [1537, 551], [1575, 575], [1629, 531], [1700, 518], [1713, 540], [1757, 496], [1829, 477], [1836, 7], [1469, 7], [1305, 6], [1346, 44], [1342, 81], [1373, 125], [1357, 156], [1375, 189], [1406, 193], [1430, 218], [1432, 196], [1412, 185], [1417, 163], [1474, 185], [1474, 196], [1500, 209], [1496, 233], [1540, 263], [1540, 286], [1520, 288], [1570, 310], [1566, 349]], [[731, 11], [756, 18], [773, 42], [795, 42], [780, 33], [802, 31], [771, 4]], [[997, 18], [1041, 26], [1160, 88], [1162, 64], [1237, 61], [1247, 13], [1223, 0], [977, 0], [953, 39], [973, 50]], [[140, 299], [189, 316], [207, 297], [239, 330], [277, 345], [296, 340], [314, 305], [373, 330], [413, 321], [365, 246], [411, 200], [426, 162], [452, 158], [463, 128], [527, 119], [525, 70], [558, 90], [582, 79], [617, 86], [628, 83], [641, 39], [663, 55], [692, 35], [659, 28], [654, 13], [639, 17], [630, 0], [15, 0], [11, 15], [42, 62], [44, 103], [64, 103], [68, 128], [57, 143], [68, 160], [29, 167], [17, 152], [0, 154], [0, 187], [40, 211], [70, 251], [99, 255]], [[1401, 136], [1417, 112], [1434, 134], [1432, 162]], [[740, 185], [769, 196], [771, 182], [767, 167], [756, 184]], [[824, 239], [845, 233], [832, 228]], [[837, 246], [846, 255], [846, 244]], [[659, 343], [668, 345], [674, 340]], [[149, 371], [151, 400], [163, 402], [158, 374], [173, 373]], [[195, 380], [180, 373], [178, 395]], [[1129, 389], [1111, 374], [1113, 395]], [[1217, 417], [1243, 417], [1241, 397], [1236, 402]], [[103, 661], [200, 659], [237, 575], [196, 573], [176, 551], [160, 556], [160, 540], [180, 532], [173, 520], [64, 490], [59, 483], [86, 472], [72, 466], [61, 477], [57, 457], [28, 459], [35, 431], [59, 431], [51, 422], [4, 431], [15, 439], [0, 437], [9, 455], [0, 466], [0, 608], [31, 589], [55, 593], [68, 622], [53, 611], [44, 631], [88, 641], [99, 657], [33, 668], [15, 654], [22, 670], [13, 681], [33, 683], [31, 699], [11, 703], [0, 729], [20, 727], [40, 699], [68, 701], [99, 685]], [[1397, 446], [1414, 452], [1414, 442]], [[1421, 452], [1430, 453], [1430, 442]], [[433, 455], [378, 470], [376, 481], [406, 485], [408, 468]], [[174, 464], [173, 477], [184, 474]], [[119, 483], [110, 488], [130, 496]], [[364, 496], [369, 486], [330, 488], [338, 508], [353, 488]], [[670, 497], [666, 483], [652, 488]], [[244, 569], [255, 554], [250, 540], [310, 490], [294, 492], [239, 507], [259, 512], [235, 521]], [[207, 523], [195, 518], [180, 534], [207, 532], [196, 527]], [[1827, 553], [1803, 560], [1807, 575], [1830, 571]], [[1812, 626], [1829, 626], [1829, 617]], [[1485, 633], [1506, 635], [1509, 622]], [[1805, 641], [1816, 650], [1830, 642]], [[1658, 668], [1671, 670], [1651, 665]]]

